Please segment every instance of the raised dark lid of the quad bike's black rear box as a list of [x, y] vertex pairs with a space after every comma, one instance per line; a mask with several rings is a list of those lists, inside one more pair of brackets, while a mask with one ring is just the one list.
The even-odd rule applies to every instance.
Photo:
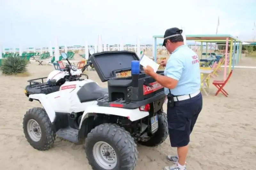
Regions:
[[[140, 60], [135, 52], [132, 51], [104, 51], [90, 56], [95, 70], [102, 82], [116, 78], [113, 74], [115, 70], [131, 70], [133, 60]], [[140, 66], [140, 71], [143, 71]]]

